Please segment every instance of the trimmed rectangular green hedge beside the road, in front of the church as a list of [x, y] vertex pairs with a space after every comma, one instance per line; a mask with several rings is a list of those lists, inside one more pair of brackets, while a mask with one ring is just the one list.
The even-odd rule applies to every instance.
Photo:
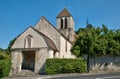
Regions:
[[47, 59], [46, 74], [83, 73], [86, 72], [86, 62], [83, 59]]

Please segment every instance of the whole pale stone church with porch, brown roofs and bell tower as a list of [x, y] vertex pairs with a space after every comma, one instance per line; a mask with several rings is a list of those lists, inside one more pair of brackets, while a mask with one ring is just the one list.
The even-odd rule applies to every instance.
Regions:
[[41, 17], [34, 27], [21, 33], [11, 48], [12, 74], [22, 70], [43, 73], [47, 58], [75, 58], [70, 49], [74, 41], [74, 19], [64, 8], [53, 26]]

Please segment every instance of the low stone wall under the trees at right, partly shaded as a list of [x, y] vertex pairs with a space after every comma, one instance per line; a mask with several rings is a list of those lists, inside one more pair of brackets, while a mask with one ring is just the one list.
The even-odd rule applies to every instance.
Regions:
[[90, 71], [120, 71], [120, 56], [97, 56], [90, 58]]

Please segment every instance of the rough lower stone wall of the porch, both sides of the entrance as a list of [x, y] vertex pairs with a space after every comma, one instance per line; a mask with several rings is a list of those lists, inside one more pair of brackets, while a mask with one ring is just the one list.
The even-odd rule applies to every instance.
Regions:
[[[22, 70], [22, 50], [14, 50], [11, 53], [12, 56], [12, 69], [11, 74], [16, 75], [19, 74]], [[45, 73], [45, 62], [46, 59], [49, 58], [48, 48], [41, 48], [39, 50], [35, 50], [35, 68], [34, 73]]]

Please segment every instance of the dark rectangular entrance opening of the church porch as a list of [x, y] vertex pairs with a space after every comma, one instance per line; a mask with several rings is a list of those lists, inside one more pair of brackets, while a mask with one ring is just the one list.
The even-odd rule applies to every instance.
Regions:
[[23, 51], [22, 69], [34, 71], [35, 68], [35, 51]]

